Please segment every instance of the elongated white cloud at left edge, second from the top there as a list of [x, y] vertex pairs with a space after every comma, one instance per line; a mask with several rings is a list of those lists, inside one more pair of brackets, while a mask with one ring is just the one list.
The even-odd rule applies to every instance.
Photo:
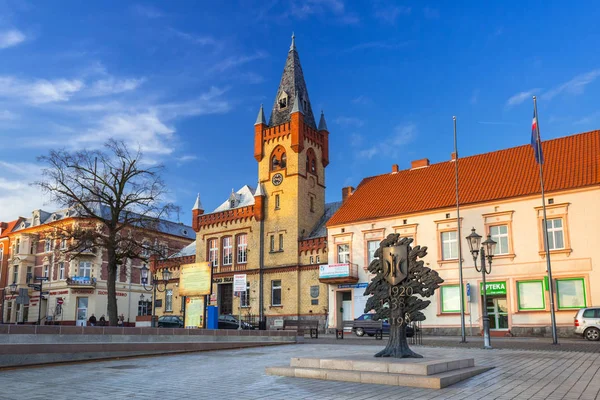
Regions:
[[25, 81], [12, 76], [0, 76], [0, 97], [23, 99], [32, 104], [61, 102], [69, 100], [84, 86], [77, 79]]

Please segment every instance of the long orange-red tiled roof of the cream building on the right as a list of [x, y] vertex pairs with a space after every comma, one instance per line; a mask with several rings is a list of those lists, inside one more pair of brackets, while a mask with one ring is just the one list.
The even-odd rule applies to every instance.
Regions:
[[[542, 143], [546, 192], [600, 184], [600, 131]], [[530, 145], [459, 159], [460, 203], [541, 193]], [[327, 226], [456, 205], [454, 162], [363, 179]]]

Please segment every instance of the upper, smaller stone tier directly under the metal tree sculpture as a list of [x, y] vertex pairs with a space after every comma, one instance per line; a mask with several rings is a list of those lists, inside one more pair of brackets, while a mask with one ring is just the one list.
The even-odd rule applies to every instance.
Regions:
[[336, 357], [304, 358], [293, 357], [291, 367], [324, 368], [343, 371], [384, 372], [404, 375], [434, 375], [475, 366], [472, 358], [464, 359], [419, 359], [419, 358], [375, 358]]

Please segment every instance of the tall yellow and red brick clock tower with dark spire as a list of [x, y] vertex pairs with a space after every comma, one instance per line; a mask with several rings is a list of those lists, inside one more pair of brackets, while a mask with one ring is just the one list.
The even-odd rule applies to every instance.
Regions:
[[325, 213], [329, 131], [315, 123], [294, 36], [269, 122], [260, 107], [254, 157], [264, 196], [264, 266], [299, 264], [299, 241]]

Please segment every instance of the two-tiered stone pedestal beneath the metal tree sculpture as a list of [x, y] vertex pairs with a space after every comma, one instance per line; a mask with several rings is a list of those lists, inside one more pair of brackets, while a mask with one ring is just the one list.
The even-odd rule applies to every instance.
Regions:
[[290, 366], [268, 367], [269, 375], [441, 389], [490, 370], [465, 359], [396, 359], [369, 356], [292, 358]]

